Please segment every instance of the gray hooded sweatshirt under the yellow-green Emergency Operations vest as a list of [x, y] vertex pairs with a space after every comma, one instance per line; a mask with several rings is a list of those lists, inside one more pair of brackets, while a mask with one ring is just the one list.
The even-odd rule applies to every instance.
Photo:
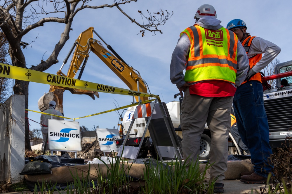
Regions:
[[[220, 25], [221, 21], [215, 19], [211, 16], [205, 16], [200, 18], [196, 24], [211, 30], [218, 30], [223, 26]], [[230, 31], [230, 33], [233, 33]], [[183, 70], [185, 70], [185, 64], [187, 63], [187, 57], [189, 55], [191, 47], [191, 42], [189, 37], [184, 33], [173, 51], [170, 63], [170, 80], [171, 83], [176, 84], [177, 88], [182, 87], [185, 84]], [[236, 80], [235, 86], [240, 86], [240, 84], [244, 81], [247, 70], [249, 66], [248, 57], [246, 52], [241, 45], [241, 42], [237, 42], [237, 72], [236, 72]], [[233, 84], [232, 84], [233, 85]]]

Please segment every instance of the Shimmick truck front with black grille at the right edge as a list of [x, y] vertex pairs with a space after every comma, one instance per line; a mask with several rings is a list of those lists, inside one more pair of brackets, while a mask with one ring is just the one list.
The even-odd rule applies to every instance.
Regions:
[[[292, 130], [292, 60], [279, 63], [275, 75], [266, 79], [276, 79], [273, 89], [264, 91], [264, 106], [270, 130], [270, 145], [272, 149], [281, 147]], [[277, 74], [281, 76], [277, 76]]]

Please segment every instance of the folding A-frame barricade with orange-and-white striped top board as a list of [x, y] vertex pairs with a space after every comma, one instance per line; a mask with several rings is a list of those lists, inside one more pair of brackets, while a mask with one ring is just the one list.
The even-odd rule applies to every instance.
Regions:
[[[126, 140], [131, 132], [134, 121], [137, 118], [145, 118], [147, 123], [142, 139], [138, 147], [126, 146]], [[138, 105], [136, 107], [132, 122], [127, 134], [125, 135], [124, 141], [119, 148], [118, 157], [133, 159], [133, 163], [135, 163], [147, 129], [149, 130], [150, 137], [160, 160], [178, 159], [181, 161], [183, 159], [181, 144], [175, 133], [168, 109], [166, 104], [161, 102], [160, 99], [155, 99], [154, 102]]]

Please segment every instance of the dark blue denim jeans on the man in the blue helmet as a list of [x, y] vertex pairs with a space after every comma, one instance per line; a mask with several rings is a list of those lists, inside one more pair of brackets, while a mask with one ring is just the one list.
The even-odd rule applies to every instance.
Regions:
[[251, 152], [254, 170], [256, 174], [267, 177], [272, 170], [268, 162], [272, 149], [269, 144], [269, 126], [262, 84], [258, 81], [248, 81], [237, 87], [233, 107], [238, 131]]

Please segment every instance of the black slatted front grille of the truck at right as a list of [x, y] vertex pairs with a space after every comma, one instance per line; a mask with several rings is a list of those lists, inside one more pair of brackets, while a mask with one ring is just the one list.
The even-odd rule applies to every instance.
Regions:
[[265, 100], [270, 132], [288, 131], [292, 127], [292, 98]]

